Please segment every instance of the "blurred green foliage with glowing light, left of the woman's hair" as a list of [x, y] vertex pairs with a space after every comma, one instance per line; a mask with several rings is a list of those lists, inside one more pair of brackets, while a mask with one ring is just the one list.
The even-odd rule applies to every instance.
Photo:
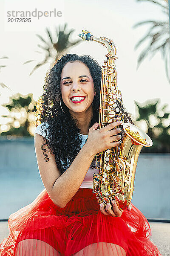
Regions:
[[[8, 119], [7, 124], [10, 126], [8, 131], [3, 131], [0, 136], [28, 136], [30, 124], [34, 123], [34, 112], [36, 111], [36, 102], [33, 99], [33, 94], [23, 96], [20, 93], [10, 97], [8, 104], [2, 104], [8, 109], [8, 115], [2, 115]], [[17, 126], [17, 127], [16, 127]]]

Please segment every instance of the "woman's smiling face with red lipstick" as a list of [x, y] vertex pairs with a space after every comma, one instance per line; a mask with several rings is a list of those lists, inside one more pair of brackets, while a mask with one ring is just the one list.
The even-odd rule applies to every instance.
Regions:
[[76, 113], [86, 111], [96, 95], [90, 70], [81, 61], [65, 64], [61, 73], [60, 88], [63, 102], [70, 111]]

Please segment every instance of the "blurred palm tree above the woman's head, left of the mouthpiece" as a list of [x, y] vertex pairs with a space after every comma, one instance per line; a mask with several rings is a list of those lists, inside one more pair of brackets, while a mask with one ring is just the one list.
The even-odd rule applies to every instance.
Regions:
[[[39, 67], [41, 67], [43, 64], [46, 64], [48, 62], [48, 60], [52, 60], [53, 62], [56, 61], [62, 54], [64, 54], [65, 52], [68, 52], [68, 49], [70, 47], [73, 47], [75, 45], [77, 45], [80, 41], [82, 41], [81, 39], [77, 39], [73, 42], [70, 41], [70, 36], [71, 34], [74, 32], [74, 29], [69, 30], [68, 32], [66, 32], [66, 26], [67, 23], [65, 23], [64, 28], [62, 29], [61, 26], [59, 26], [59, 29], [57, 29], [57, 27], [55, 27], [55, 35], [56, 35], [56, 39], [54, 39], [51, 35], [51, 32], [48, 28], [46, 28], [46, 33], [48, 36], [48, 41], [45, 41], [44, 38], [42, 38], [41, 35], [38, 35], [38, 38], [40, 38], [40, 40], [43, 42], [44, 46], [38, 44], [38, 47], [40, 47], [42, 49], [43, 52], [45, 52], [45, 58], [43, 61], [39, 62], [31, 71], [31, 73], [29, 74], [29, 76], [31, 76], [31, 74]], [[36, 51], [39, 52], [39, 51]], [[42, 52], [39, 52], [42, 53]], [[26, 63], [30, 63], [31, 61], [35, 61], [35, 60], [29, 60], [24, 62], [23, 64]]]

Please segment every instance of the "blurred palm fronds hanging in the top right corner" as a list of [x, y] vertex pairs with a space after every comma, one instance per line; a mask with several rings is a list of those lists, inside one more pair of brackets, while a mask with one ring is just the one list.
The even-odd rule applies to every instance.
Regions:
[[141, 25], [149, 24], [150, 28], [147, 31], [146, 35], [136, 44], [135, 49], [137, 49], [144, 41], [149, 41], [148, 45], [143, 51], [140, 53], [138, 57], [138, 64], [142, 63], [144, 58], [147, 55], [151, 55], [151, 58], [155, 55], [159, 50], [161, 51], [162, 57], [164, 59], [165, 71], [167, 79], [170, 83], [170, 29], [169, 29], [169, 8], [168, 8], [168, 0], [137, 0], [147, 1], [150, 3], [154, 3], [158, 5], [162, 12], [167, 16], [164, 21], [161, 20], [145, 20], [139, 23], [136, 23], [133, 28], [139, 27]]

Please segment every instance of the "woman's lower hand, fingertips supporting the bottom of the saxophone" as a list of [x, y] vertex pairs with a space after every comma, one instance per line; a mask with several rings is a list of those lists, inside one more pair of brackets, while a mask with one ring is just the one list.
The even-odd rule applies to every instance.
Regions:
[[[97, 197], [97, 199], [99, 199], [99, 197]], [[119, 210], [119, 208], [114, 200], [112, 201], [112, 205], [113, 205], [113, 210], [111, 209], [111, 204], [108, 203], [105, 208], [105, 205], [103, 203], [101, 203], [100, 211], [104, 215], [111, 215], [112, 217], [120, 217], [122, 215], [123, 210]], [[132, 209], [132, 207], [131, 207], [131, 205], [129, 205], [127, 207], [127, 210], [131, 211], [131, 209]]]

